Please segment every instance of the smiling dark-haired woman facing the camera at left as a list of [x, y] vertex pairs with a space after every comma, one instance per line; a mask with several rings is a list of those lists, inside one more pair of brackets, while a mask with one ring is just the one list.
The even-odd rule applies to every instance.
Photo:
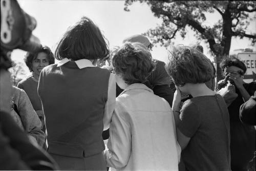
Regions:
[[48, 65], [54, 64], [54, 56], [48, 46], [43, 46], [36, 52], [28, 52], [24, 60], [29, 70], [32, 72], [32, 75], [20, 81], [17, 87], [24, 89], [27, 93], [34, 110], [41, 120], [41, 129], [46, 132], [45, 115], [42, 112], [41, 101], [37, 94], [37, 86], [41, 70]]

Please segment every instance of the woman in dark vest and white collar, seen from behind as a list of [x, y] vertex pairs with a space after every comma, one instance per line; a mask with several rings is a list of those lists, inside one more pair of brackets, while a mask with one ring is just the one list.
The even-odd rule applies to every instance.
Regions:
[[106, 170], [101, 133], [109, 128], [116, 82], [97, 61], [108, 55], [99, 28], [82, 17], [57, 45], [60, 62], [41, 72], [38, 94], [46, 115], [48, 152], [62, 170]]

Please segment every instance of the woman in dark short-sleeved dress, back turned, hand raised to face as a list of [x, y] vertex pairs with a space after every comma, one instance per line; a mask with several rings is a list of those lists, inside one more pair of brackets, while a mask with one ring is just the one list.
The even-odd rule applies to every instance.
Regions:
[[[173, 112], [186, 169], [230, 170], [227, 106], [221, 95], [205, 85], [214, 76], [210, 60], [196, 48], [176, 46], [166, 70], [177, 88]], [[181, 92], [193, 98], [180, 110]]]

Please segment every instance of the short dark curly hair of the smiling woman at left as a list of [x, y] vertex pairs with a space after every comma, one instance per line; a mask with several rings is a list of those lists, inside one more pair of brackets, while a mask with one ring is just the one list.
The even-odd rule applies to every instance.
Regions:
[[37, 55], [40, 53], [40, 52], [44, 52], [46, 53], [47, 55], [47, 58], [49, 60], [49, 65], [50, 64], [54, 64], [54, 56], [53, 56], [53, 53], [50, 49], [50, 47], [48, 46], [42, 46], [38, 51], [36, 52], [28, 52], [24, 58], [24, 61], [26, 63], [26, 65], [28, 66], [29, 70], [31, 72], [33, 72], [33, 69], [32, 69], [32, 61], [37, 57]]

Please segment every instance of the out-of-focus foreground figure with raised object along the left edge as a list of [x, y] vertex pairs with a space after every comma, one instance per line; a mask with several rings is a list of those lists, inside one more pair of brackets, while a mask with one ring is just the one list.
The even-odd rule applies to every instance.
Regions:
[[58, 169], [48, 153], [30, 143], [10, 115], [10, 55], [15, 48], [32, 52], [41, 47], [39, 39], [32, 35], [35, 26], [35, 19], [20, 9], [15, 0], [1, 0], [0, 170]]

